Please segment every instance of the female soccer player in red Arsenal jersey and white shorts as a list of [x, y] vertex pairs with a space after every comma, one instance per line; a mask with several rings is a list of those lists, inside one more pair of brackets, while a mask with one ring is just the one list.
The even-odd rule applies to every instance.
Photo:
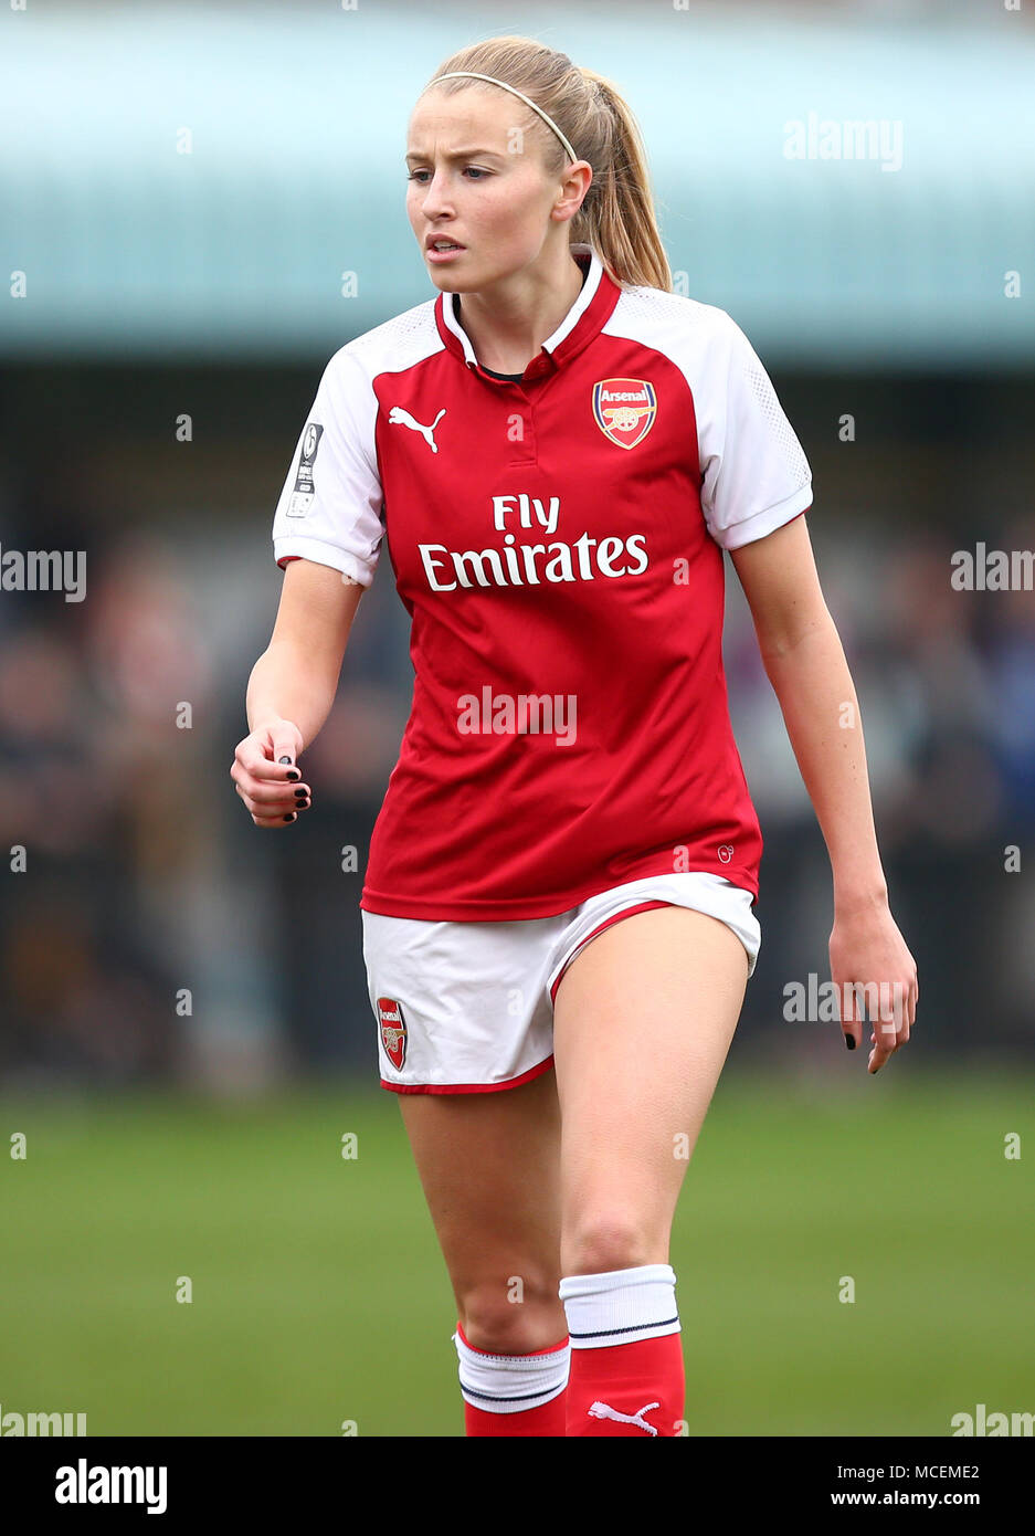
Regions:
[[917, 971], [888, 908], [863, 734], [749, 343], [671, 292], [636, 123], [499, 37], [410, 120], [435, 300], [327, 364], [273, 521], [286, 567], [230, 770], [256, 826], [310, 803], [381, 538], [413, 710], [361, 897], [381, 1081], [456, 1295], [467, 1433], [671, 1436], [670, 1229], [760, 931], [759, 823], [722, 670], [723, 550], [834, 876], [832, 977]]

